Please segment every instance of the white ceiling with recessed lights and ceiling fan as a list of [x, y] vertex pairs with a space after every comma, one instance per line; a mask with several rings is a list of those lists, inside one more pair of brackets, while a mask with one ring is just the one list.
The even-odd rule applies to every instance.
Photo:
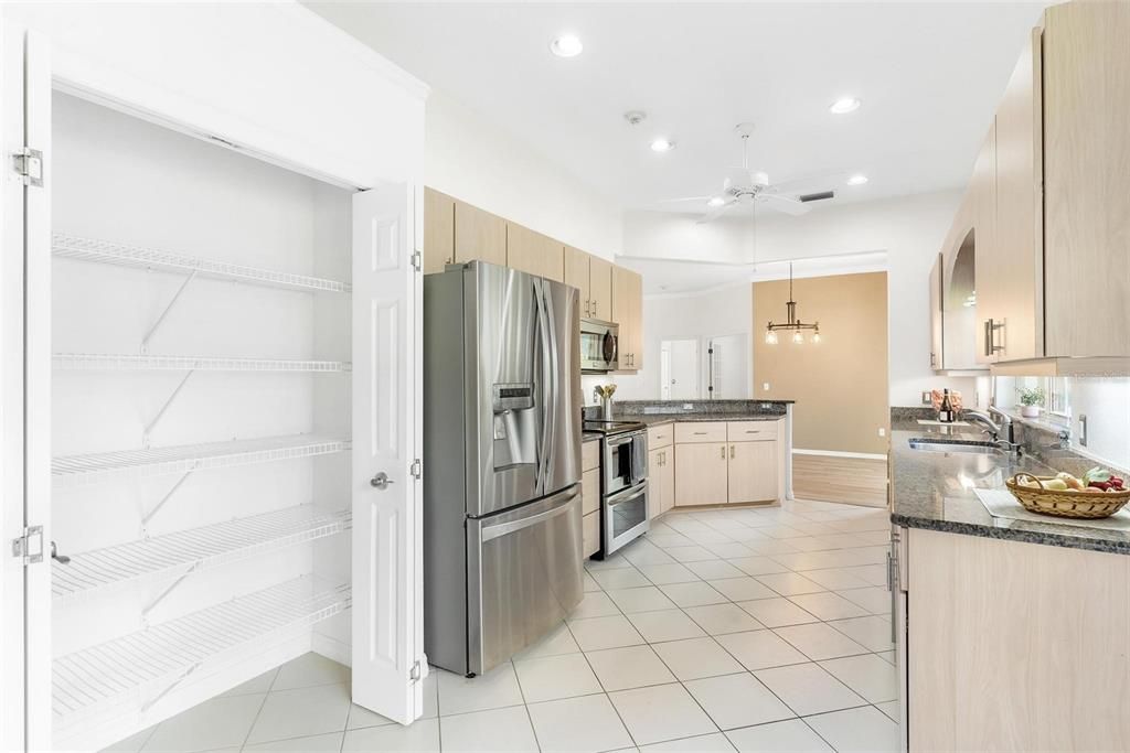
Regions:
[[[964, 185], [1044, 2], [307, 2], [624, 208], [720, 189], [732, 128], [774, 182], [861, 172], [837, 201]], [[577, 34], [564, 60], [550, 40]], [[863, 106], [832, 115], [853, 95]], [[632, 128], [623, 113], [649, 113]], [[655, 135], [675, 151], [649, 149]], [[692, 207], [692, 209], [695, 209]]]

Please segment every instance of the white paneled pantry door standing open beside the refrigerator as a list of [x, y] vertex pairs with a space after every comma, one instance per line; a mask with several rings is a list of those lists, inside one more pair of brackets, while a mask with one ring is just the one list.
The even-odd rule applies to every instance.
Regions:
[[353, 203], [353, 700], [405, 725], [427, 673], [414, 205], [407, 184]]

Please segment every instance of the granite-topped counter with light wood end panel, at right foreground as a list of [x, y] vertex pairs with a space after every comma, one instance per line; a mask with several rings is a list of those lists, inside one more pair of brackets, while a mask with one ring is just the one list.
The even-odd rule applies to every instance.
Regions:
[[892, 593], [912, 751], [1130, 750], [1130, 533], [993, 517], [1022, 455], [913, 449], [979, 427], [893, 422]]

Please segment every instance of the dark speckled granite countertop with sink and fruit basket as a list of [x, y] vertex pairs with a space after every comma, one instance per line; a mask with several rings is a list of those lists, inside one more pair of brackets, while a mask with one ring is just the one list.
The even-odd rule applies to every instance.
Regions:
[[913, 437], [982, 439], [976, 427], [921, 426], [895, 419], [890, 432], [892, 511], [896, 525], [948, 531], [1033, 544], [1130, 554], [1130, 532], [1086, 528], [1049, 518], [1048, 523], [994, 518], [974, 488], [1002, 488], [1019, 471], [1051, 475], [1054, 471], [1022, 456], [966, 455], [912, 449]]

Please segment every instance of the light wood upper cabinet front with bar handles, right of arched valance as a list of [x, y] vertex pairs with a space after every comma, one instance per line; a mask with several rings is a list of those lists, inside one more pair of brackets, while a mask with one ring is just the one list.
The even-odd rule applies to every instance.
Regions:
[[1037, 30], [997, 108], [992, 274], [984, 286], [977, 279], [979, 318], [1001, 325], [993, 338], [1001, 349], [997, 361], [1044, 354], [1040, 44]]

